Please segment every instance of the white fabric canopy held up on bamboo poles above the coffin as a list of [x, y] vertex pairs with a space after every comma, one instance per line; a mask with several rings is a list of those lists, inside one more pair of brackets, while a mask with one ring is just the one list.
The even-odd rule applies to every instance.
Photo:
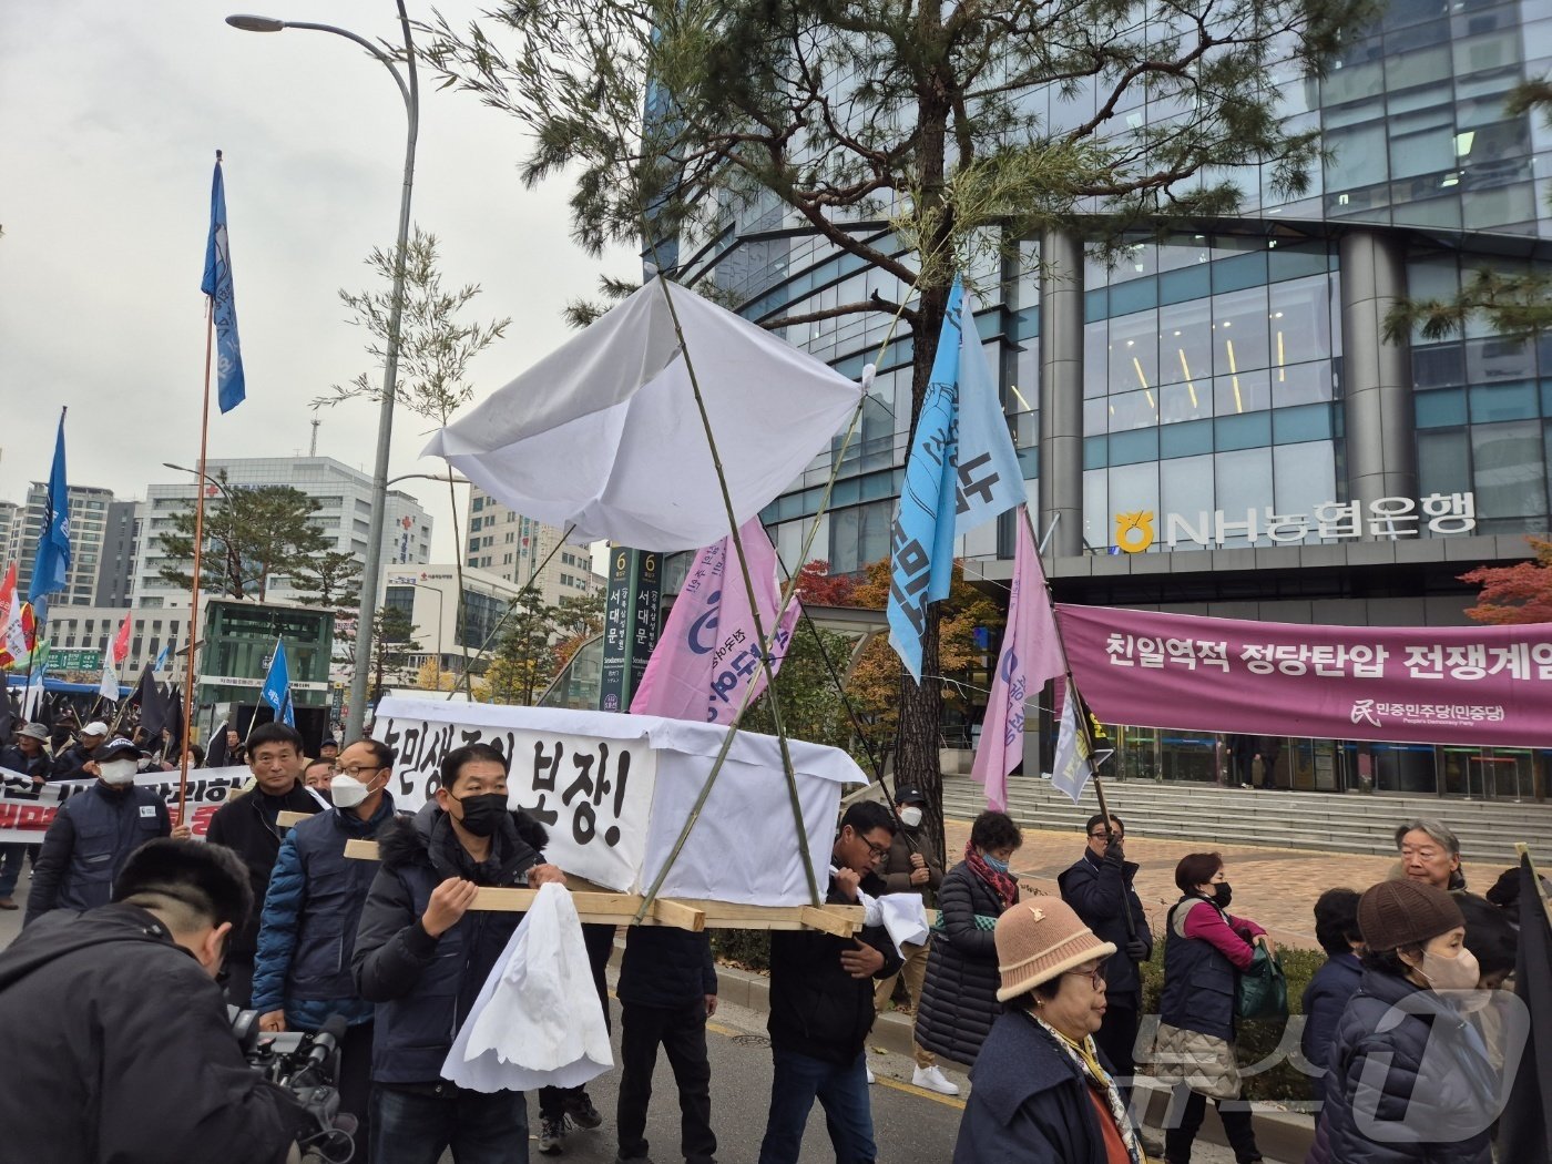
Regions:
[[[742, 525], [792, 486], [861, 390], [748, 320], [667, 289]], [[576, 523], [579, 540], [670, 553], [728, 535], [658, 279], [438, 431], [424, 455], [521, 514]]]

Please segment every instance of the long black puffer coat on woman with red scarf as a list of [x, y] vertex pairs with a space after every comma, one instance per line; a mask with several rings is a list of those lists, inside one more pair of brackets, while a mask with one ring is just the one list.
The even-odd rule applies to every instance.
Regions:
[[933, 931], [927, 958], [927, 981], [916, 1009], [916, 1041], [956, 1063], [975, 1063], [992, 1024], [1003, 1012], [996, 1001], [996, 939], [975, 919], [1001, 917], [1001, 896], [956, 864], [937, 891], [944, 928]]

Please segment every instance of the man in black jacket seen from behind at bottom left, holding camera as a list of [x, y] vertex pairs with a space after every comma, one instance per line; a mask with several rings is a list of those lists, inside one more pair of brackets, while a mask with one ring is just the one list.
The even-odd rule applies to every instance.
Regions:
[[140, 849], [113, 903], [54, 911], [0, 954], [6, 1159], [281, 1164], [309, 1119], [242, 1058], [214, 976], [251, 906], [241, 863]]

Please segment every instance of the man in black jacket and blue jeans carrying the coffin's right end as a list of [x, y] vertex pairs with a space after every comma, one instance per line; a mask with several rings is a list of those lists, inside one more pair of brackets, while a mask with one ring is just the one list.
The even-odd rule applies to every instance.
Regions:
[[[894, 816], [885, 805], [849, 807], [830, 849], [826, 902], [866, 905], [882, 888], [872, 871], [892, 840]], [[815, 1099], [838, 1164], [872, 1164], [878, 1148], [863, 1052], [874, 1023], [871, 979], [899, 970], [900, 956], [883, 925], [864, 925], [858, 939], [801, 930], [771, 934], [767, 1029], [776, 1071], [759, 1164], [796, 1164]]]

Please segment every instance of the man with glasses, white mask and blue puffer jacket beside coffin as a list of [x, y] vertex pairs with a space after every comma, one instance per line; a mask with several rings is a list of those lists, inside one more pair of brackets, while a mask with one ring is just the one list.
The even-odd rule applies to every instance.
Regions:
[[359, 1121], [366, 1159], [372, 1066], [372, 1004], [355, 993], [351, 953], [377, 861], [346, 857], [352, 840], [372, 840], [394, 816], [394, 753], [357, 740], [338, 759], [334, 807], [286, 833], [264, 897], [253, 962], [253, 1009], [261, 1031], [318, 1031], [332, 1015], [349, 1024], [340, 1044], [340, 1108]]

